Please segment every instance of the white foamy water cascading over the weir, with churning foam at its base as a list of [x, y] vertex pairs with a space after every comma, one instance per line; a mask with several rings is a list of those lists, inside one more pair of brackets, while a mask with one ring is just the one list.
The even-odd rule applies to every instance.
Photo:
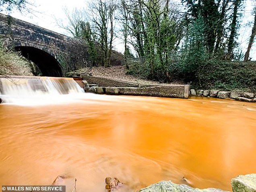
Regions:
[[9, 104], [44, 105], [74, 102], [77, 99], [85, 99], [84, 93], [73, 78], [0, 78], [0, 98]]

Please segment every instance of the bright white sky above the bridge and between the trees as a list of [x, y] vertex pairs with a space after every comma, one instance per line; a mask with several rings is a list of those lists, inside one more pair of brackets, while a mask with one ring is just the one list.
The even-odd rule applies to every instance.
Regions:
[[[179, 0], [176, 0], [179, 1]], [[63, 7], [66, 6], [70, 11], [74, 8], [84, 8], [87, 6], [90, 0], [29, 0], [31, 4], [32, 13], [20, 13], [19, 11], [13, 11], [10, 15], [12, 17], [21, 19], [23, 21], [27, 21], [29, 23], [33, 23], [35, 25], [39, 25], [46, 29], [50, 29], [57, 33], [62, 33], [64, 35], [69, 35], [64, 29], [58, 27], [57, 21], [62, 20], [65, 21], [66, 16], [63, 11]], [[243, 52], [246, 52], [246, 48], [248, 45], [248, 39], [251, 33], [251, 25], [248, 26], [246, 24], [249, 21], [254, 21], [254, 17], [252, 16], [252, 8], [255, 4], [255, 0], [246, 0], [245, 8], [244, 8], [244, 19], [241, 23], [241, 30], [239, 31], [239, 43], [241, 43], [241, 47], [243, 48]], [[5, 12], [2, 12], [6, 14]], [[57, 19], [57, 21], [56, 21]], [[115, 49], [119, 52], [124, 52], [124, 45], [118, 39], [114, 42]], [[256, 42], [252, 47], [250, 57], [256, 60]]]

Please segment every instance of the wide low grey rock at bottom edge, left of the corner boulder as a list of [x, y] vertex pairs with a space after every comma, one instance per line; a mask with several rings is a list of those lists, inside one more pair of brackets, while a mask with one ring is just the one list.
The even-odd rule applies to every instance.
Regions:
[[197, 189], [185, 184], [175, 184], [171, 181], [161, 181], [141, 189], [139, 192], [224, 192], [221, 189], [207, 188]]

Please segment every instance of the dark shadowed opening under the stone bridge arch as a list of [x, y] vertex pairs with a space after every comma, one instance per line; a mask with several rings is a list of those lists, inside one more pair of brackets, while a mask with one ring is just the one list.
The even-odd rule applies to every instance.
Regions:
[[43, 76], [63, 76], [59, 62], [47, 52], [28, 46], [17, 46], [15, 51], [21, 52], [23, 57], [34, 62]]

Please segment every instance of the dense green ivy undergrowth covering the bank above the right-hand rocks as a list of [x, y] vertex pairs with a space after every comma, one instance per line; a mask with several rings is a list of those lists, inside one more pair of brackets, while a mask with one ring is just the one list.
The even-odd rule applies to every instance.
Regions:
[[211, 60], [201, 72], [200, 81], [192, 83], [196, 89], [256, 92], [256, 62], [224, 62]]

